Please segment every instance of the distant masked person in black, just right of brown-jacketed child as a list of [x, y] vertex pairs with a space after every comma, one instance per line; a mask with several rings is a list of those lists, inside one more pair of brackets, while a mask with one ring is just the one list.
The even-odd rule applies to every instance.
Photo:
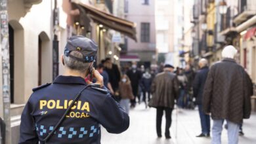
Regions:
[[127, 71], [126, 75], [129, 77], [131, 81], [131, 87], [133, 88], [133, 96], [135, 96], [134, 99], [131, 99], [131, 107], [135, 107], [136, 105], [136, 97], [138, 98], [138, 101], [140, 103], [140, 94], [138, 94], [139, 89], [139, 82], [141, 79], [141, 72], [139, 69], [137, 69], [137, 63], [133, 62], [131, 65], [131, 69]]

